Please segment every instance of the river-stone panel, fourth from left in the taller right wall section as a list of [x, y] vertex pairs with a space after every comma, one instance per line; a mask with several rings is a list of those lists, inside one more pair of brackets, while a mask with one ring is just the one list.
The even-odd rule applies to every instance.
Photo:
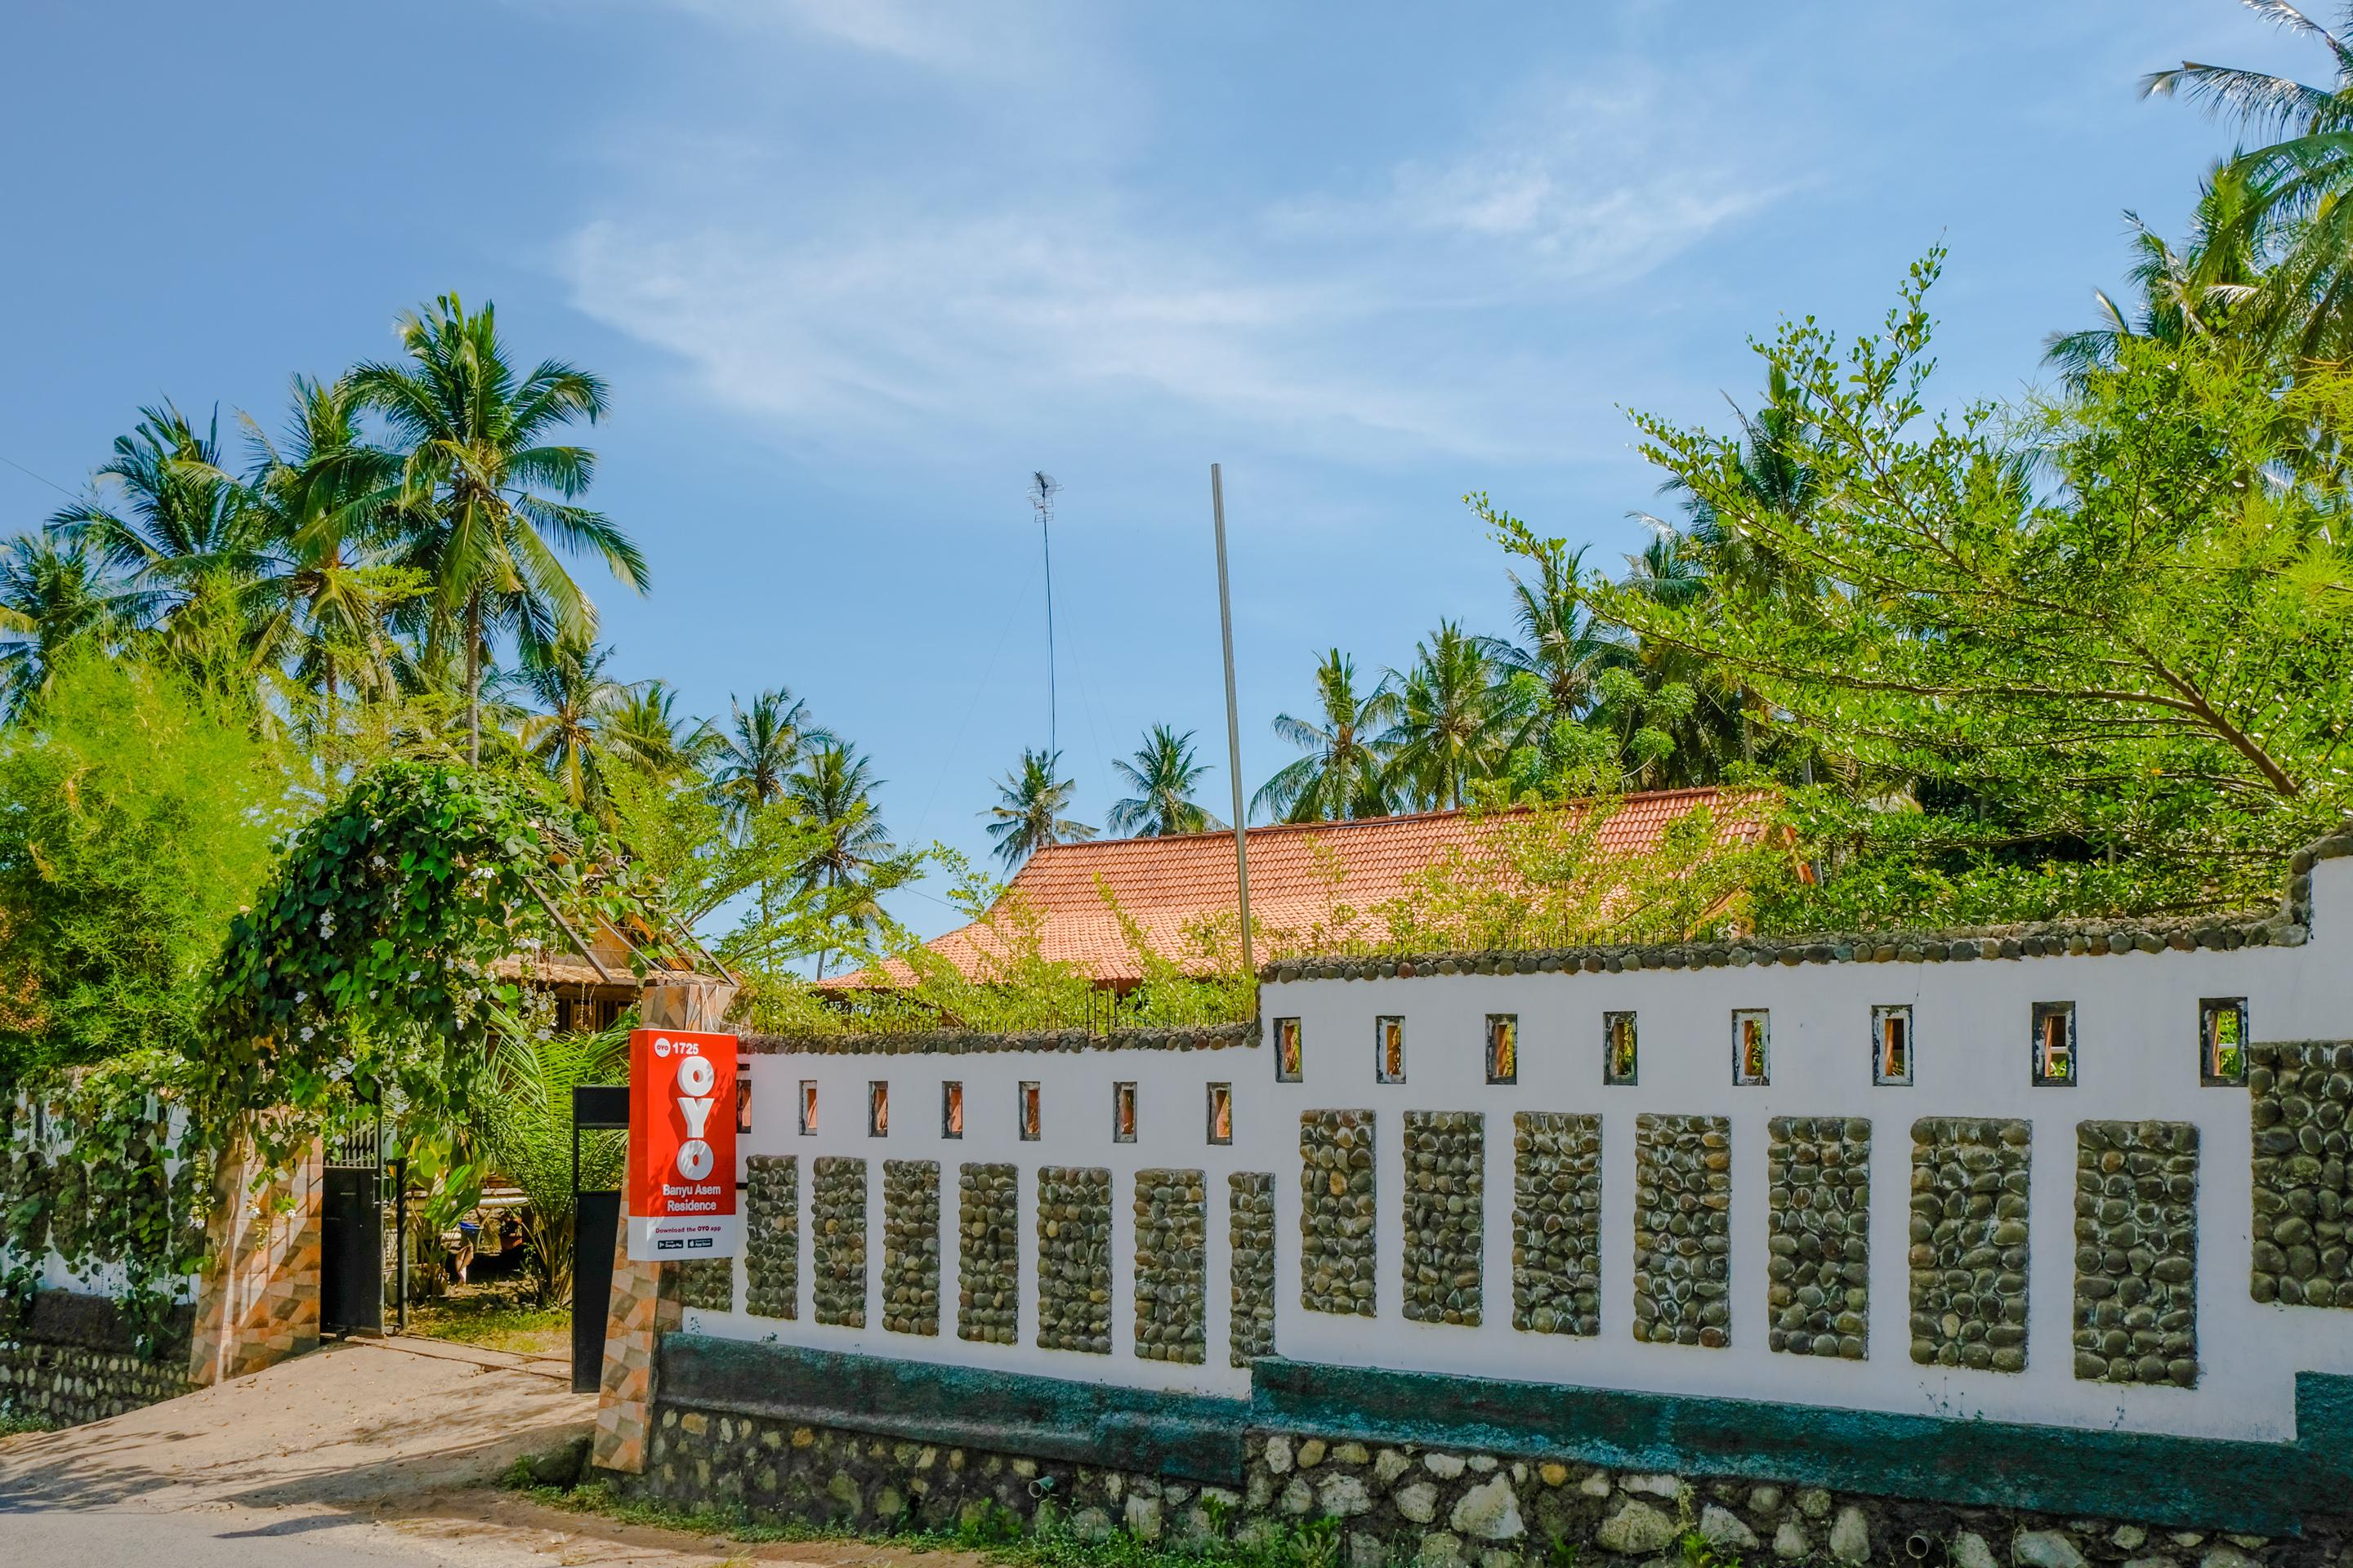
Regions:
[[1633, 1338], [1732, 1342], [1732, 1121], [1635, 1117]]

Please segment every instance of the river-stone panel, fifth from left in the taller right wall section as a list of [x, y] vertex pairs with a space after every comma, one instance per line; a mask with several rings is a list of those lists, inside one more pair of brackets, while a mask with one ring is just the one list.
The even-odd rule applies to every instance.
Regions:
[[1871, 1121], [1765, 1124], [1767, 1342], [1793, 1356], [1871, 1354]]

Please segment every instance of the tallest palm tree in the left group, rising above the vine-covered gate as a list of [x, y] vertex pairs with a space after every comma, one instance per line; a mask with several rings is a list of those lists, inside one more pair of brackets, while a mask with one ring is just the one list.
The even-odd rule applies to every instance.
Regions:
[[525, 663], [548, 658], [560, 642], [586, 644], [595, 607], [560, 552], [602, 559], [638, 592], [647, 569], [609, 517], [574, 505], [595, 477], [595, 454], [548, 442], [576, 418], [602, 418], [598, 376], [562, 360], [518, 376], [494, 306], [468, 315], [456, 294], [405, 315], [400, 346], [407, 364], [369, 362], [351, 381], [393, 428], [405, 505], [431, 515], [402, 555], [433, 581], [435, 637], [464, 639], [466, 755], [480, 762], [492, 630], [511, 630]]

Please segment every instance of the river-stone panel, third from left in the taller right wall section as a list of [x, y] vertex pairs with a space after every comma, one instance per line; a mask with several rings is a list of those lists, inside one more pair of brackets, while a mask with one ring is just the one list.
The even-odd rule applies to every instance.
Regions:
[[1600, 1117], [1511, 1117], [1511, 1326], [1602, 1331]]

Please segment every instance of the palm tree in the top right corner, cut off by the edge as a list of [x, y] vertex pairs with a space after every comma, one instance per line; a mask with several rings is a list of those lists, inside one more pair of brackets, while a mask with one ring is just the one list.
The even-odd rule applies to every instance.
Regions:
[[2341, 360], [2353, 348], [2353, 7], [2329, 31], [2285, 0], [2242, 0], [2329, 54], [2332, 85], [2311, 87], [2268, 71], [2181, 61], [2141, 78], [2144, 96], [2188, 99], [2257, 136], [2275, 136], [2231, 160], [2245, 186], [2228, 226], [2207, 247], [2200, 284], [2228, 282], [2233, 256], [2275, 256], [2254, 306], [2235, 320], [2252, 341], [2301, 360]]

